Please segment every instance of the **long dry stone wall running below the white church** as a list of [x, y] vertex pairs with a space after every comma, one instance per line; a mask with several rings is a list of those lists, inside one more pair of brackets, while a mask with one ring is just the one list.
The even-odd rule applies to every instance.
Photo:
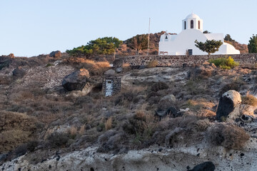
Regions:
[[240, 66], [254, 66], [257, 61], [257, 53], [235, 54], [235, 55], [211, 55], [211, 56], [127, 56], [124, 63], [131, 66], [146, 66], [148, 62], [156, 60], [158, 66], [192, 66], [201, 64], [211, 58], [222, 58], [231, 56]]

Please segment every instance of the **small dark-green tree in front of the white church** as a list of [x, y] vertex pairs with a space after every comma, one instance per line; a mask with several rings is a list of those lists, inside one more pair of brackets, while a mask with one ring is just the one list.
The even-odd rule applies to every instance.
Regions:
[[196, 47], [198, 47], [201, 51], [205, 51], [210, 55], [211, 53], [215, 53], [218, 51], [218, 48], [221, 47], [222, 41], [215, 41], [215, 40], [207, 40], [206, 42], [201, 42], [201, 41], [195, 41]]

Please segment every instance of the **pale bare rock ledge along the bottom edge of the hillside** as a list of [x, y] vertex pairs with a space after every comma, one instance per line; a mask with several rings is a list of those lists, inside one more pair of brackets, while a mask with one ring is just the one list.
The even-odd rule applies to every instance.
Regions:
[[[122, 154], [96, 152], [98, 147], [53, 155], [42, 162], [31, 163], [34, 155], [26, 154], [5, 162], [1, 170], [256, 170], [257, 156], [253, 149], [249, 152], [226, 151], [222, 147], [151, 147], [142, 150], [129, 150]], [[242, 155], [238, 154], [244, 154]], [[212, 162], [203, 162], [208, 158]], [[240, 165], [238, 164], [240, 162]], [[203, 162], [203, 163], [202, 163]], [[198, 163], [201, 163], [198, 165]], [[196, 165], [196, 166], [195, 166]], [[215, 166], [214, 166], [215, 165]], [[195, 167], [194, 167], [195, 166]]]

